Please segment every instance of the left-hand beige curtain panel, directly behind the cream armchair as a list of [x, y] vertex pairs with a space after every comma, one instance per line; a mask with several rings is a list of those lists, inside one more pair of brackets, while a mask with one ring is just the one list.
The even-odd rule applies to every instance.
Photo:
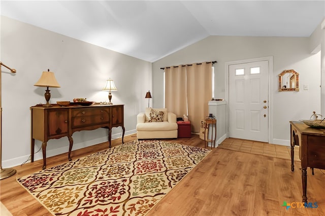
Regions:
[[165, 68], [165, 108], [177, 117], [187, 115], [186, 67], [171, 66]]

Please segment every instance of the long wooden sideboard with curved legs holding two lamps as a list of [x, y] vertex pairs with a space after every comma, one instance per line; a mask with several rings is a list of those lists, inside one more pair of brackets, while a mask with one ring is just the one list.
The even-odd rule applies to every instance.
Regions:
[[46, 146], [49, 139], [67, 136], [69, 139], [68, 158], [71, 161], [72, 134], [81, 130], [108, 129], [109, 148], [113, 127], [122, 127], [124, 143], [124, 105], [70, 105], [52, 107], [31, 106], [31, 162], [34, 162], [35, 139], [42, 141], [43, 169], [46, 168]]

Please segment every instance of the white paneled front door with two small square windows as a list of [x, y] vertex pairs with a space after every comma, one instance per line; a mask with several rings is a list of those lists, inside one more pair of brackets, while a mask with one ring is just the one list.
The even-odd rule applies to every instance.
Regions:
[[268, 61], [229, 65], [229, 137], [268, 142]]

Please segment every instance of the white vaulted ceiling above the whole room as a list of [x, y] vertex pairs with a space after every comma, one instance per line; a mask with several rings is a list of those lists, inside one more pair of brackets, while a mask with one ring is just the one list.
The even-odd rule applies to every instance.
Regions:
[[1, 15], [154, 62], [209, 35], [309, 37], [322, 1], [1, 1]]

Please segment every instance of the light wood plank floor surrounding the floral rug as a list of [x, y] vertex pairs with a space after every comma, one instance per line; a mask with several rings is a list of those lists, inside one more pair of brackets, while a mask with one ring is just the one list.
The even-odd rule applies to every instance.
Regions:
[[[134, 139], [136, 135], [124, 137], [124, 141]], [[198, 135], [166, 140], [204, 148]], [[120, 143], [120, 139], [113, 140], [112, 146]], [[76, 150], [72, 157], [76, 159], [107, 147], [108, 143], [102, 143]], [[67, 154], [54, 156], [47, 159], [47, 167], [67, 161]], [[317, 202], [317, 208], [286, 210], [281, 206], [283, 201], [302, 202], [300, 162], [295, 162], [295, 172], [290, 171], [290, 163], [288, 159], [215, 148], [147, 215], [325, 215], [325, 170], [315, 169], [314, 175], [310, 169], [307, 171], [308, 202]], [[17, 173], [0, 182], [1, 202], [13, 215], [51, 215], [16, 181], [41, 167], [41, 160], [14, 167]]]

